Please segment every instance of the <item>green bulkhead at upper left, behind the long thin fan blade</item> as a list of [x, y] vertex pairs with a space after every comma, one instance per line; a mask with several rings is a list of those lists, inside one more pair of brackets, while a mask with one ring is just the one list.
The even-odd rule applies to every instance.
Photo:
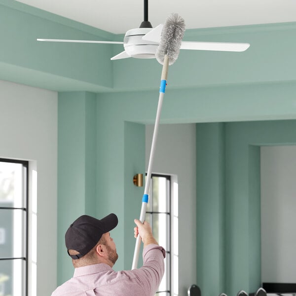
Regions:
[[113, 34], [13, 0], [0, 0], [0, 27], [0, 79], [60, 91], [112, 86], [111, 45], [36, 39], [112, 40]]

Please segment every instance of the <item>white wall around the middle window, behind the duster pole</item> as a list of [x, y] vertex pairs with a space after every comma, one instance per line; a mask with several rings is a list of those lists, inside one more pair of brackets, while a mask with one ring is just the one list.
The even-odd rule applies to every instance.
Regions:
[[[146, 126], [146, 169], [154, 125]], [[196, 284], [196, 133], [195, 124], [159, 126], [152, 173], [178, 175], [179, 295]]]

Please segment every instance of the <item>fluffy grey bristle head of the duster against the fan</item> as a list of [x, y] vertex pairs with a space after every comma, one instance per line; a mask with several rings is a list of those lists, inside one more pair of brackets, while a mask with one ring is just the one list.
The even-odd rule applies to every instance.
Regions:
[[185, 21], [177, 13], [172, 13], [167, 17], [162, 33], [159, 46], [156, 49], [155, 57], [163, 65], [164, 55], [169, 58], [169, 65], [175, 63], [178, 58], [182, 39], [185, 32]]

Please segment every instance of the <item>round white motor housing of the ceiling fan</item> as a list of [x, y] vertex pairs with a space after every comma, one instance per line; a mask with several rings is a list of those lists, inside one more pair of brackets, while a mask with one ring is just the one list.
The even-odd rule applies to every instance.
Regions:
[[137, 28], [127, 31], [123, 39], [125, 52], [133, 58], [155, 58], [155, 52], [159, 44], [142, 39], [151, 30], [152, 28]]

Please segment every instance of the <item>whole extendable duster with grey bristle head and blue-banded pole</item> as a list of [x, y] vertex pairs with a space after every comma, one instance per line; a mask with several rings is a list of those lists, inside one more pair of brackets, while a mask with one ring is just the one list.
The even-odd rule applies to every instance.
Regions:
[[[163, 67], [162, 67], [162, 73], [161, 73], [159, 100], [158, 100], [156, 119], [155, 119], [155, 125], [154, 125], [153, 137], [152, 137], [152, 145], [151, 145], [150, 157], [149, 157], [149, 163], [148, 163], [147, 179], [146, 179], [145, 190], [144, 190], [144, 195], [142, 199], [142, 208], [141, 208], [140, 219], [139, 219], [142, 223], [145, 221], [145, 216], [146, 216], [146, 206], [147, 206], [148, 197], [149, 197], [148, 193], [149, 193], [151, 170], [152, 170], [152, 163], [154, 158], [156, 139], [158, 134], [159, 119], [160, 119], [160, 113], [161, 113], [165, 88], [167, 85], [168, 66], [172, 65], [178, 58], [184, 32], [185, 32], [184, 19], [181, 16], [179, 16], [177, 13], [171, 14], [166, 19], [166, 22], [163, 26], [162, 33], [161, 33], [161, 40], [155, 53], [155, 57], [157, 61], [161, 65], [163, 65]], [[136, 240], [132, 269], [135, 269], [138, 266], [140, 247], [141, 247], [141, 238], [140, 238], [140, 235], [138, 235]]]

